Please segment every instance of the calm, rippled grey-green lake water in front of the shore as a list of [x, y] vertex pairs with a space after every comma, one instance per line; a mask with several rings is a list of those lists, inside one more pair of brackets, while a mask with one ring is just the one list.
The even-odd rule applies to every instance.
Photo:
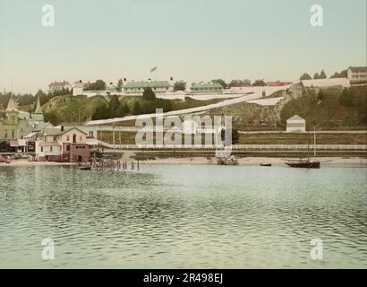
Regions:
[[0, 167], [0, 267], [366, 268], [366, 181], [351, 167]]

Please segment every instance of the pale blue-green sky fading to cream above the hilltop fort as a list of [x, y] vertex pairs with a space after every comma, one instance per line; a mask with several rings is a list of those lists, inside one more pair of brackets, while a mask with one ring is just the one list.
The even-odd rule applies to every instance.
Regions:
[[[41, 25], [43, 4], [55, 27]], [[294, 80], [349, 65], [366, 65], [365, 0], [0, 0], [2, 91], [121, 77]]]

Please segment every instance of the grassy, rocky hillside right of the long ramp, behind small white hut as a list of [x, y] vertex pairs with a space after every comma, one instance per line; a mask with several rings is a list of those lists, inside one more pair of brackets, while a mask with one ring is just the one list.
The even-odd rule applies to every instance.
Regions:
[[341, 87], [298, 90], [287, 91], [285, 100], [276, 106], [239, 103], [213, 109], [209, 114], [232, 115], [235, 128], [240, 130], [285, 130], [286, 119], [294, 115], [305, 118], [311, 129], [313, 126], [318, 130], [367, 128], [367, 86], [346, 91]]

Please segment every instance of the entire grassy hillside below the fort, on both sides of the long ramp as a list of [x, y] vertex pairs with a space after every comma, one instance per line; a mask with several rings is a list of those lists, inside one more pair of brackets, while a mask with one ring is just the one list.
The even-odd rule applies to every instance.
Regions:
[[[284, 91], [276, 95], [282, 94], [285, 94]], [[108, 107], [109, 100], [110, 98], [102, 96], [91, 98], [58, 96], [49, 100], [43, 109], [46, 120], [53, 124], [84, 122], [90, 119], [96, 110]], [[163, 102], [169, 101], [170, 110], [177, 110], [209, 105], [221, 100], [186, 98], [186, 100], [163, 100]], [[159, 107], [161, 101], [159, 99], [155, 101], [155, 107]], [[120, 105], [126, 105], [129, 108], [126, 116], [134, 114], [134, 106], [137, 102], [141, 106], [153, 106], [152, 101], [142, 100], [141, 96], [122, 97], [119, 102]], [[234, 127], [240, 130], [285, 130], [286, 119], [294, 114], [306, 118], [308, 126], [316, 126], [318, 130], [366, 129], [367, 86], [352, 87], [347, 91], [341, 87], [303, 89], [301, 86], [294, 86], [286, 91], [285, 100], [280, 101], [276, 106], [262, 107], [253, 103], [239, 103], [210, 110], [208, 114], [232, 115]], [[133, 126], [133, 123], [126, 122], [121, 125]]]

